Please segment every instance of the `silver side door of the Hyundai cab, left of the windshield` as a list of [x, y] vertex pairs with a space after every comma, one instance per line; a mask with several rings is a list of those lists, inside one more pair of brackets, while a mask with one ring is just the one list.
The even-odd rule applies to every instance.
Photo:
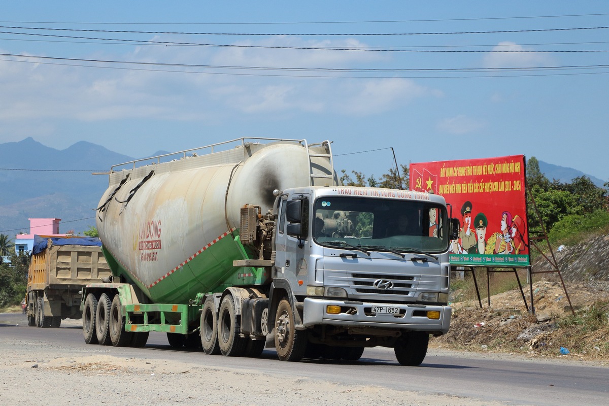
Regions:
[[[275, 278], [284, 278], [295, 295], [305, 295], [310, 251], [308, 195], [295, 195], [281, 201], [276, 237]], [[303, 281], [300, 284], [298, 281]]]

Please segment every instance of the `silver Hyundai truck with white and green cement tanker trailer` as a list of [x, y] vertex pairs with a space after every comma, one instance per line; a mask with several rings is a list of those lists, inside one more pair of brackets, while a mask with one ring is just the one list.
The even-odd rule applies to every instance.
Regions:
[[86, 343], [280, 360], [423, 362], [448, 331], [459, 222], [432, 194], [341, 186], [330, 142], [242, 138], [113, 166], [97, 208], [113, 274], [82, 294]]

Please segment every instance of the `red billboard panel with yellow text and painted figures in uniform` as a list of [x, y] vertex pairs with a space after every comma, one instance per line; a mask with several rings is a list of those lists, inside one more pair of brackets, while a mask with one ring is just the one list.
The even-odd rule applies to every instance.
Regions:
[[410, 190], [442, 195], [461, 223], [450, 262], [529, 265], [524, 155], [410, 164]]

